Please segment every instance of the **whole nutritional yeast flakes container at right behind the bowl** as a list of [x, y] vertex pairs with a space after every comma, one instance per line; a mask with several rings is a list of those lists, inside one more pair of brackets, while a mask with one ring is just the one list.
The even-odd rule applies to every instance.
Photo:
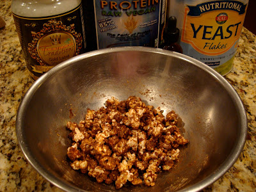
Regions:
[[243, 28], [248, 0], [168, 1], [168, 15], [177, 18], [183, 53], [228, 74]]

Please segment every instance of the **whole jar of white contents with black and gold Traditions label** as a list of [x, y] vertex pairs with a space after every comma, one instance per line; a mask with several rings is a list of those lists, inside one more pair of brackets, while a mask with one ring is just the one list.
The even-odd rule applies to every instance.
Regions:
[[86, 51], [81, 0], [13, 0], [12, 13], [34, 81]]

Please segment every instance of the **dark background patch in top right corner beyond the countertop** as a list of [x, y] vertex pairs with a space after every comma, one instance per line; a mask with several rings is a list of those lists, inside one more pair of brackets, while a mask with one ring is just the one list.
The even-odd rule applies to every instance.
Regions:
[[256, 1], [249, 0], [244, 27], [256, 35]]

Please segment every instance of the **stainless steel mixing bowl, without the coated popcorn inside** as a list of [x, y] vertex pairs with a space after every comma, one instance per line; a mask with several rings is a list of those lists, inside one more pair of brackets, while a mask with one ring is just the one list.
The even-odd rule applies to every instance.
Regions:
[[217, 72], [183, 54], [147, 47], [88, 52], [52, 68], [28, 90], [17, 113], [17, 137], [29, 163], [66, 191], [112, 191], [70, 168], [65, 128], [87, 108], [99, 109], [110, 97], [136, 95], [174, 110], [189, 143], [180, 162], [159, 173], [156, 186], [124, 186], [122, 191], [198, 191], [236, 162], [244, 146], [246, 113], [236, 91]]

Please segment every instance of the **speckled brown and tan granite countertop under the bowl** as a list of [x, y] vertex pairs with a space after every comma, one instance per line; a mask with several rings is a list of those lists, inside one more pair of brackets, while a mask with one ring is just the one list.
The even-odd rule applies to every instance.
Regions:
[[[61, 191], [26, 161], [15, 132], [20, 100], [31, 86], [12, 18], [11, 1], [0, 2], [6, 22], [0, 29], [0, 191]], [[256, 189], [256, 38], [243, 28], [234, 68], [225, 76], [246, 108], [248, 136], [234, 166], [204, 191], [255, 191]]]

